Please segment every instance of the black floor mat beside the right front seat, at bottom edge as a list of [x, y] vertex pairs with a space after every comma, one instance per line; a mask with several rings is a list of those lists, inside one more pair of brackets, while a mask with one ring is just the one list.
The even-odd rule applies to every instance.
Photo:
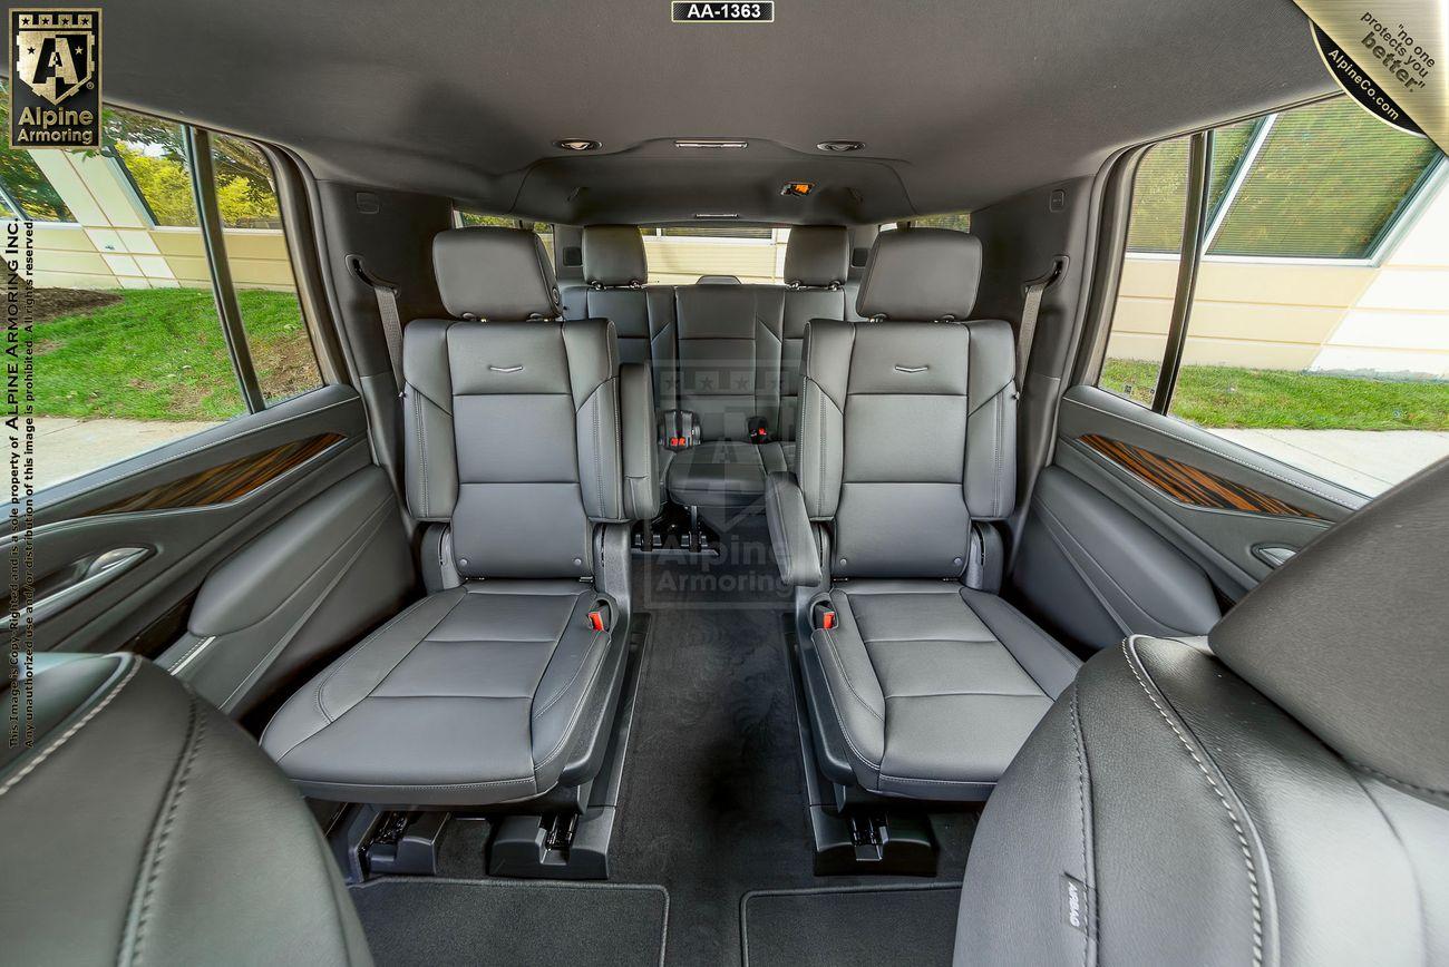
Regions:
[[756, 890], [740, 900], [745, 967], [949, 967], [961, 887]]

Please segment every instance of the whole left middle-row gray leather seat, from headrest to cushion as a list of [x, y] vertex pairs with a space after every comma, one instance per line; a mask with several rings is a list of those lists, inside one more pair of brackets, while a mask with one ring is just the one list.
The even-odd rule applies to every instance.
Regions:
[[625, 368], [645, 402], [622, 420], [614, 329], [555, 318], [538, 240], [455, 229], [433, 259], [443, 304], [467, 318], [404, 330], [407, 502], [449, 527], [455, 586], [338, 659], [268, 725], [262, 747], [320, 799], [484, 805], [551, 789], [600, 727], [617, 688], [609, 659], [625, 647], [619, 602], [593, 582], [596, 527], [656, 510], [648, 372]]

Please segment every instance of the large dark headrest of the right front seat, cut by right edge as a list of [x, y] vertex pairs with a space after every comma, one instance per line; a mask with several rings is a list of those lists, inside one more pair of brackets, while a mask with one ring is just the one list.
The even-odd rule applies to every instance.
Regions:
[[1208, 633], [1350, 763], [1449, 795], [1449, 460], [1314, 540]]

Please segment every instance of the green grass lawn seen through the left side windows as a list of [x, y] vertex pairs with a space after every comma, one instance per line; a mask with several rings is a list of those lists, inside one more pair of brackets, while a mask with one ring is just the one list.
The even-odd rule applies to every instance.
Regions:
[[[245, 411], [210, 290], [122, 290], [35, 326], [36, 414], [227, 420]], [[291, 292], [236, 294], [268, 400], [322, 381]]]

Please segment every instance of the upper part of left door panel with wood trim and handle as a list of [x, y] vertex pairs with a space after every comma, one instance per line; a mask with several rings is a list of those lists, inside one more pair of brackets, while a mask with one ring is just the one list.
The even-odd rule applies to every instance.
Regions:
[[170, 644], [223, 559], [367, 468], [361, 401], [326, 387], [41, 492], [36, 650]]

